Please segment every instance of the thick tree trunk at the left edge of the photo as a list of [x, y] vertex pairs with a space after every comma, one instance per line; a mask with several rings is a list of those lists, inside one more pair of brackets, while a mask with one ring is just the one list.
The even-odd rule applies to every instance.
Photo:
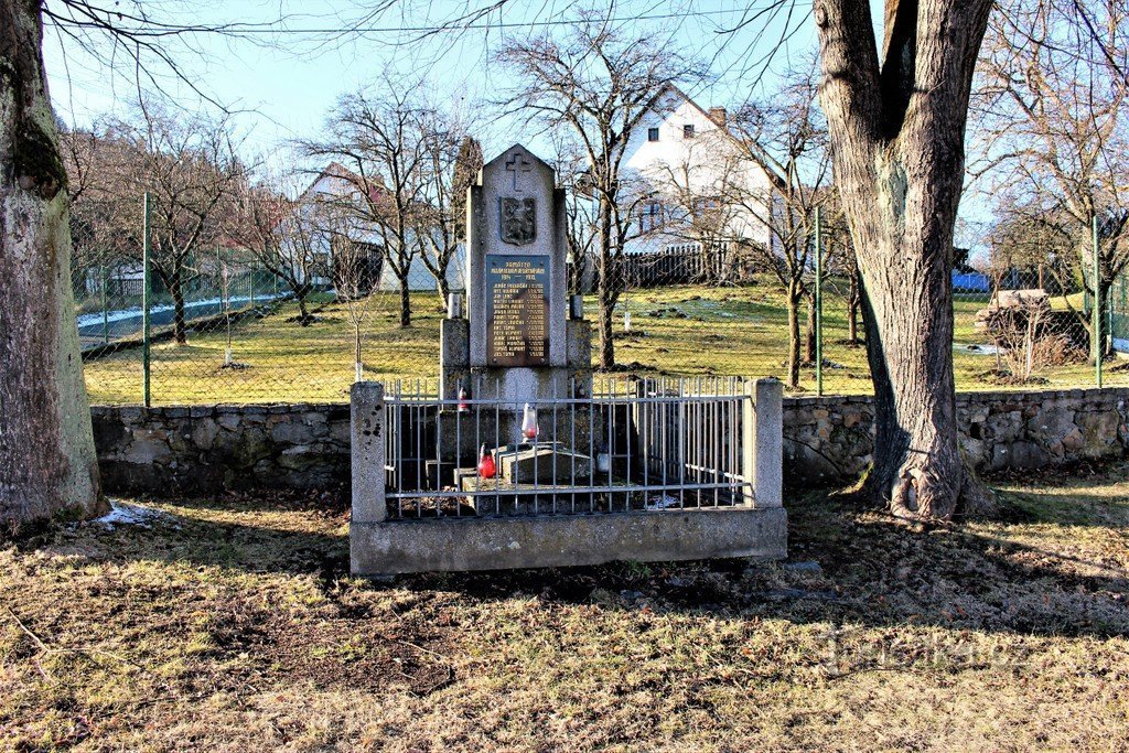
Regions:
[[100, 513], [40, 5], [0, 0], [0, 525]]

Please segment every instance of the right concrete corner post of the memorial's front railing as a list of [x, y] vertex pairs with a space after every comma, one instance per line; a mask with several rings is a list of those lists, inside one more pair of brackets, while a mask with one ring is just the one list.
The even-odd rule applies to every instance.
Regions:
[[742, 475], [751, 481], [745, 501], [756, 507], [784, 506], [784, 385], [758, 379], [745, 385], [742, 413]]

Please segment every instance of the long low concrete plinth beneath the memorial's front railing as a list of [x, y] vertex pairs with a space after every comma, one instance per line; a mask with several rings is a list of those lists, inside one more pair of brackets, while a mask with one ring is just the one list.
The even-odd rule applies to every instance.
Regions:
[[781, 507], [353, 523], [356, 576], [788, 555]]

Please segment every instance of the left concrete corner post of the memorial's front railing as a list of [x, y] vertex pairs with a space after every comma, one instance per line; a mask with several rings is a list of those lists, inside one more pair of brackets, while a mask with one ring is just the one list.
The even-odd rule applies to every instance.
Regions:
[[384, 504], [384, 385], [357, 382], [351, 391], [352, 522], [382, 523]]

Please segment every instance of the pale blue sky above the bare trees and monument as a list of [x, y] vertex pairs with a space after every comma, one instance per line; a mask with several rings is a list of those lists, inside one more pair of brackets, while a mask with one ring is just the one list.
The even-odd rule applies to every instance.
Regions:
[[[123, 3], [128, 6], [128, 3]], [[763, 97], [776, 84], [774, 76], [799, 65], [816, 51], [815, 29], [808, 2], [796, 2], [790, 15], [767, 15], [776, 0], [616, 0], [587, 3], [580, 0], [513, 0], [474, 28], [461, 34], [438, 34], [419, 41], [418, 29], [434, 28], [469, 9], [492, 0], [400, 0], [383, 15], [362, 24], [362, 33], [330, 35], [318, 29], [352, 28], [375, 0], [148, 0], [156, 20], [181, 25], [242, 24], [244, 28], [280, 17], [281, 32], [242, 34], [230, 38], [199, 33], [169, 38], [165, 45], [184, 73], [209, 97], [238, 111], [235, 123], [245, 137], [248, 157], [265, 158], [278, 172], [295, 167], [290, 145], [310, 139], [336, 99], [370, 84], [388, 65], [405, 72], [423, 72], [434, 99], [453, 106], [482, 105], [506, 85], [506, 73], [491, 55], [507, 35], [552, 32], [567, 23], [578, 7], [599, 8], [602, 17], [638, 19], [628, 28], [662, 35], [673, 29], [674, 43], [684, 52], [711, 63], [716, 81], [688, 87], [686, 93], [703, 107], [735, 107]], [[876, 23], [882, 2], [872, 0]], [[59, 10], [54, 0], [47, 8]], [[765, 15], [761, 15], [765, 14]], [[726, 33], [734, 26], [739, 30]], [[406, 29], [406, 30], [405, 30]], [[787, 30], [787, 32], [786, 32]], [[788, 38], [771, 56], [781, 36]], [[108, 54], [106, 40], [100, 38]], [[138, 85], [121, 52], [115, 68], [103, 64], [47, 23], [44, 41], [52, 100], [55, 111], [72, 125], [88, 126], [103, 115], [124, 116], [138, 99]], [[215, 110], [167, 67], [150, 67], [166, 93], [186, 112]], [[143, 88], [152, 90], [152, 84]], [[476, 134], [489, 159], [515, 141], [534, 151], [546, 151], [536, 130], [515, 120], [483, 117]], [[303, 167], [318, 167], [305, 165]], [[962, 207], [966, 218], [981, 218], [974, 207]], [[968, 243], [968, 242], [965, 242]]]

